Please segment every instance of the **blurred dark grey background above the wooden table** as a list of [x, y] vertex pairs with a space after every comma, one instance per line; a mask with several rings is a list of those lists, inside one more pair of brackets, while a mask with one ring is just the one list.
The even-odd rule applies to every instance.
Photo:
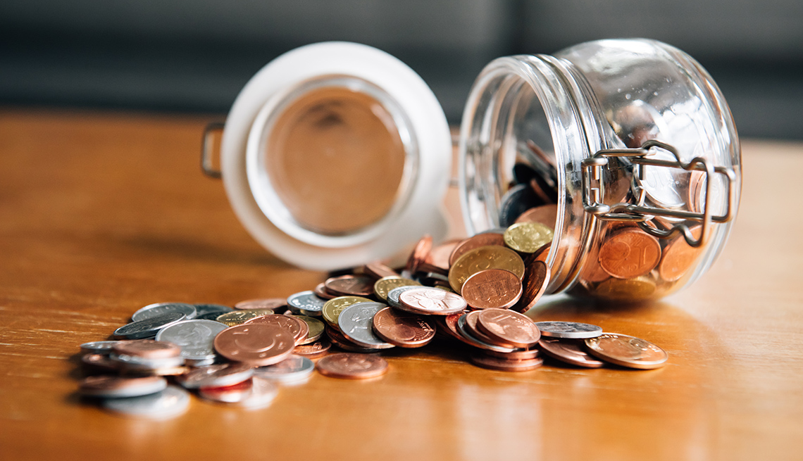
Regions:
[[803, 139], [800, 0], [2, 0], [0, 105], [226, 113], [275, 56], [349, 40], [408, 63], [459, 123], [491, 59], [615, 37], [699, 60], [740, 135]]

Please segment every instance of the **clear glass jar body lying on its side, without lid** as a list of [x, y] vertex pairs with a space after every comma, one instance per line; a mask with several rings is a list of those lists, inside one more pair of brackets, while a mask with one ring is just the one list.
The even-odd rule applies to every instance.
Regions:
[[547, 293], [675, 292], [711, 266], [739, 204], [728, 104], [699, 63], [654, 40], [495, 59], [467, 100], [460, 162], [470, 235], [552, 221]]

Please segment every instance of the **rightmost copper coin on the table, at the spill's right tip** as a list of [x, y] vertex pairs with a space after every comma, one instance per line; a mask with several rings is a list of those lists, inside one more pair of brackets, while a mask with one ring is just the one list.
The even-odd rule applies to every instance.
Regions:
[[652, 370], [666, 364], [669, 354], [653, 343], [626, 334], [603, 333], [587, 338], [589, 352], [614, 365]]

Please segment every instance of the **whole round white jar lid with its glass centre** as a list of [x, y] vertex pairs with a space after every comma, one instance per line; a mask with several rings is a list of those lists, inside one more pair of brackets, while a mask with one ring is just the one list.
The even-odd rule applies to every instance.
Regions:
[[231, 107], [221, 170], [232, 208], [275, 256], [331, 270], [446, 235], [446, 116], [384, 51], [324, 42], [263, 67]]

